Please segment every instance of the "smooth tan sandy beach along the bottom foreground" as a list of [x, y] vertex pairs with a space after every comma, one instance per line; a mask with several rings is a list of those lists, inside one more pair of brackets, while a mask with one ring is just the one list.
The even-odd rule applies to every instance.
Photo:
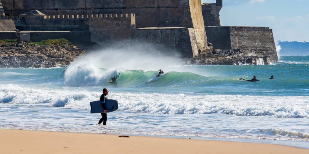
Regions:
[[161, 137], [0, 129], [0, 151], [11, 153], [218, 153], [308, 154], [309, 149], [272, 144]]

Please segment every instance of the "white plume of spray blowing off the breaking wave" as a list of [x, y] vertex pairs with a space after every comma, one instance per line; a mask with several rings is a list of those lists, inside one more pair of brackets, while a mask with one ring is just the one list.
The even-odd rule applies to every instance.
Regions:
[[[126, 70], [168, 71], [170, 66], [179, 66], [177, 53], [161, 52], [149, 46], [107, 48], [76, 59], [66, 70], [65, 85], [98, 85]], [[107, 71], [103, 72], [99, 68]]]

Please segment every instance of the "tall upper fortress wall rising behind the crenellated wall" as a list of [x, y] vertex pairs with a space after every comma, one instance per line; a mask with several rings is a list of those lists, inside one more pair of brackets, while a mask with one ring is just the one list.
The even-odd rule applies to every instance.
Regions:
[[[202, 28], [200, 0], [2, 0], [6, 15], [39, 10], [48, 15], [136, 14], [137, 28]], [[195, 16], [194, 14], [200, 14]]]

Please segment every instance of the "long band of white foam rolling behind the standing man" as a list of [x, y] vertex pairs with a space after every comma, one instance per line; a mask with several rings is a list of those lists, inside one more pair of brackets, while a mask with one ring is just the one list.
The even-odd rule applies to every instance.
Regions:
[[[40, 90], [12, 84], [0, 85], [1, 103], [48, 104], [55, 107], [89, 110], [99, 92]], [[121, 111], [164, 114], [226, 113], [247, 116], [309, 118], [309, 96], [243, 96], [113, 93]]]

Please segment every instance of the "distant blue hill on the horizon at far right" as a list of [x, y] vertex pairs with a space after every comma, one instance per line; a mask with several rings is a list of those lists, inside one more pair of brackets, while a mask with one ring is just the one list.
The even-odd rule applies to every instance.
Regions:
[[291, 55], [309, 55], [309, 42], [280, 42], [281, 50], [279, 55], [291, 56]]

